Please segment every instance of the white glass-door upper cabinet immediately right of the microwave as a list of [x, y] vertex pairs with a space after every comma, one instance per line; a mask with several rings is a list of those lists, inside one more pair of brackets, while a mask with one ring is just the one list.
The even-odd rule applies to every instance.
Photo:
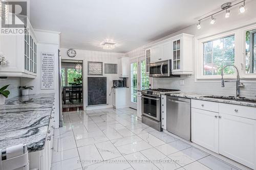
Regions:
[[172, 37], [172, 73], [193, 74], [193, 35], [180, 34]]

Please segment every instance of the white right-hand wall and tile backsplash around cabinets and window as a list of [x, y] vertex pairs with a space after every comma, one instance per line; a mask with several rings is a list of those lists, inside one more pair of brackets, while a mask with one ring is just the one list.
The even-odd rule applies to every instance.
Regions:
[[[198, 30], [195, 25], [187, 27], [183, 30], [180, 30], [176, 33], [170, 34], [166, 37], [160, 38], [151, 43], [145, 44], [131, 52], [126, 53], [126, 56], [131, 58], [137, 58], [145, 56], [145, 51], [143, 47], [147, 45], [154, 44], [166, 38], [173, 37], [181, 33], [193, 34], [196, 37], [198, 36], [211, 36], [219, 33], [227, 32], [233, 29], [238, 29], [248, 25], [256, 23], [256, 1], [246, 1], [246, 11], [244, 13], [239, 13], [238, 7], [230, 10], [230, 17], [225, 18], [225, 13], [221, 13], [217, 18], [216, 23], [211, 25], [209, 20], [201, 22], [201, 29]], [[196, 49], [195, 49], [196, 50]], [[195, 65], [194, 61], [194, 65]], [[195, 72], [195, 71], [194, 71]], [[185, 85], [181, 86], [180, 80], [185, 80]], [[242, 80], [241, 82], [246, 81], [245, 87], [241, 88], [241, 95], [246, 97], [254, 97], [256, 95], [256, 79]], [[153, 78], [153, 88], [173, 88], [180, 89], [186, 92], [197, 92], [197, 93], [207, 93], [207, 94], [218, 94], [218, 95], [234, 95], [236, 94], [236, 84], [230, 82], [225, 84], [226, 87], [222, 88], [220, 80], [205, 80], [203, 82], [196, 82], [194, 75], [191, 77], [181, 76], [181, 78]]]

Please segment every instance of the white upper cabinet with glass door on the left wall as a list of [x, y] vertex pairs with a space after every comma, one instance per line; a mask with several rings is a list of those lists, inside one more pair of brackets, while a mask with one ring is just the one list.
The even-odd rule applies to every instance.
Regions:
[[1, 56], [9, 61], [8, 65], [0, 66], [1, 76], [36, 77], [37, 41], [29, 20], [26, 20], [27, 25], [24, 28], [18, 28], [22, 34], [1, 35]]

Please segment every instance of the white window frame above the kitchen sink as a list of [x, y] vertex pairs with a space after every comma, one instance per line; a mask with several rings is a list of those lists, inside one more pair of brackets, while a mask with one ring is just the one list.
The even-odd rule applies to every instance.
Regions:
[[[246, 31], [256, 29], [256, 25], [234, 29], [232, 31], [222, 32], [214, 35], [203, 35], [195, 37], [195, 81], [221, 79], [221, 75], [204, 75], [203, 62], [203, 43], [225, 38], [234, 35], [234, 65], [238, 67], [241, 79], [255, 79], [256, 73], [246, 74], [245, 70], [245, 38]], [[241, 57], [242, 56], [242, 57]], [[225, 75], [226, 79], [236, 79], [237, 74]]]

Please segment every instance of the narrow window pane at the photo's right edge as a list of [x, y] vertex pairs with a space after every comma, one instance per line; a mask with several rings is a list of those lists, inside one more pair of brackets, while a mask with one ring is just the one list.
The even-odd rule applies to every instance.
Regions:
[[245, 71], [247, 74], [256, 73], [256, 29], [246, 31]]

